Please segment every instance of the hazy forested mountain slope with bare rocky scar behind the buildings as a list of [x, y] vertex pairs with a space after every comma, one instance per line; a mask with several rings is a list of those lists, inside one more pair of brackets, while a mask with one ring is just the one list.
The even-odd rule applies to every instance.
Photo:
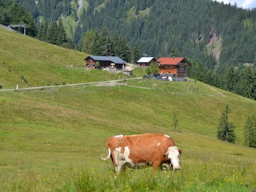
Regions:
[[[256, 10], [210, 0], [20, 1], [38, 21], [62, 18], [74, 42], [91, 28], [106, 26], [141, 54], [168, 57], [171, 51], [210, 68], [254, 63]], [[74, 28], [75, 27], [75, 28]]]

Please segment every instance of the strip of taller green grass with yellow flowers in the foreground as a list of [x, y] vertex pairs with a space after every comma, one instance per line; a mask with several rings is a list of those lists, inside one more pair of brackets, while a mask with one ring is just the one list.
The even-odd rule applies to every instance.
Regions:
[[[242, 168], [209, 165], [208, 163], [185, 164], [186, 169], [167, 173], [144, 170], [126, 170], [118, 178], [112, 176], [109, 167], [99, 170], [52, 170], [17, 173], [3, 178], [8, 191], [253, 191], [255, 173], [248, 163]], [[220, 169], [221, 168], [221, 169]], [[249, 177], [250, 180], [246, 180]], [[254, 178], [253, 178], [254, 177]], [[36, 184], [36, 185], [34, 185]]]

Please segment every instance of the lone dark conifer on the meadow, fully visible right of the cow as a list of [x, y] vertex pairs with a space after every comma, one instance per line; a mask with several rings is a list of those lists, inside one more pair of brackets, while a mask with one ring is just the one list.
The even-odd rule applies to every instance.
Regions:
[[226, 142], [234, 143], [236, 135], [234, 134], [235, 126], [229, 122], [230, 108], [226, 105], [226, 109], [222, 112], [222, 117], [218, 124], [218, 139]]

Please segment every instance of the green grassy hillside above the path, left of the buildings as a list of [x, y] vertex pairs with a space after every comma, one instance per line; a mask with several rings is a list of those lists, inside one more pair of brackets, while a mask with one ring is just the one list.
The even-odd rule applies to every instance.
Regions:
[[[88, 54], [38, 41], [0, 26], [0, 87], [65, 85], [111, 79], [94, 71], [88, 75], [84, 59]], [[120, 76], [120, 74], [118, 74]], [[116, 75], [112, 75], [116, 78]], [[21, 81], [24, 77], [24, 82]]]

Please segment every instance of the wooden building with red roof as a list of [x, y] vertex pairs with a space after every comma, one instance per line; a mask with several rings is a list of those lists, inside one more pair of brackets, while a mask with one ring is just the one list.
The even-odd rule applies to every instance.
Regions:
[[185, 78], [187, 76], [187, 66], [190, 62], [186, 58], [158, 58], [159, 74], [174, 74], [174, 77]]

